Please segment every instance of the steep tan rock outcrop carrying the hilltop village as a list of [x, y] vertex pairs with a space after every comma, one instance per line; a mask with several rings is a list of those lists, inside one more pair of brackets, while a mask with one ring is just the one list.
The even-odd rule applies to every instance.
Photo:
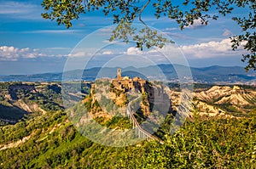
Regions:
[[[139, 84], [139, 85], [138, 85]], [[114, 115], [125, 116], [127, 104], [142, 121], [154, 120], [154, 114], [172, 112], [171, 100], [166, 90], [159, 84], [140, 78], [102, 79], [96, 81], [90, 90], [90, 96], [84, 99], [93, 118], [104, 117], [108, 121]]]

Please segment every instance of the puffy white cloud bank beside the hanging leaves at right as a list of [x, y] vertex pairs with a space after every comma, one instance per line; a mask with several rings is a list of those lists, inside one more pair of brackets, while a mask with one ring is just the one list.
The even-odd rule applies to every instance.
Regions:
[[200, 44], [193, 44], [182, 46], [183, 53], [194, 58], [212, 58], [219, 56], [234, 56], [239, 54], [245, 54], [245, 51], [241, 47], [233, 51], [231, 48], [230, 39], [224, 39], [216, 42], [204, 42]]

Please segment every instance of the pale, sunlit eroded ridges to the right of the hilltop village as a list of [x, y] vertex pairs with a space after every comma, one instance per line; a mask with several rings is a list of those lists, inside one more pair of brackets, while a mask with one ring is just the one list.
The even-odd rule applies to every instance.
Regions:
[[[181, 104], [181, 93], [169, 89], [168, 94], [172, 99], [172, 107], [177, 109]], [[250, 88], [213, 86], [207, 90], [197, 90], [193, 96], [191, 115], [196, 111], [211, 117], [234, 117], [246, 115], [256, 107], [256, 91]]]

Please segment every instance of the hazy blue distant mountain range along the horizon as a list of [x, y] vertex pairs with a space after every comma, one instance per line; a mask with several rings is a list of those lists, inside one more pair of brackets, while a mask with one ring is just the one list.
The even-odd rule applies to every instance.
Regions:
[[[122, 76], [141, 76], [150, 80], [166, 78], [171, 82], [177, 82], [178, 78], [188, 75], [184, 71], [189, 70], [183, 65], [150, 65], [143, 68], [126, 67], [122, 69]], [[256, 72], [246, 72], [239, 66], [210, 66], [204, 68], [190, 68], [194, 82], [201, 83], [243, 83], [256, 85]], [[96, 78], [116, 76], [117, 67], [100, 68], [95, 67], [88, 70], [70, 70], [63, 73], [44, 73], [35, 75], [9, 75], [0, 76], [0, 82], [61, 82], [62, 76], [65, 80], [94, 81]], [[177, 73], [178, 72], [178, 73]], [[178, 76], [177, 76], [178, 74]], [[82, 78], [81, 78], [82, 76]]]

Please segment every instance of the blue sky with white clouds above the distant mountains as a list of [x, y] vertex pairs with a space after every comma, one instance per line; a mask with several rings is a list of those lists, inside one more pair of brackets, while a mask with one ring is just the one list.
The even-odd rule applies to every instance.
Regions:
[[[91, 67], [101, 65], [102, 60], [111, 61], [117, 55], [129, 54], [144, 54], [148, 58], [152, 57], [156, 64], [166, 64], [164, 59], [154, 57], [154, 49], [142, 52], [134, 48], [134, 43], [114, 43], [104, 48], [96, 45], [103, 44], [104, 38], [107, 40], [113, 30], [111, 15], [106, 17], [100, 12], [82, 14], [79, 20], [73, 21], [73, 27], [67, 30], [64, 25], [57, 25], [55, 21], [42, 19], [42, 1], [0, 0], [0, 75], [61, 72], [72, 57], [91, 57], [92, 54], [88, 52], [90, 48], [94, 48], [91, 50], [97, 55], [94, 58], [97, 62], [90, 65]], [[241, 9], [236, 8], [230, 16], [210, 20], [207, 26], [195, 20], [194, 25], [180, 31], [173, 20], [165, 17], [157, 20], [150, 5], [152, 3], [143, 13], [143, 21], [172, 38], [189, 66], [245, 65], [241, 62], [241, 54], [247, 54], [246, 51], [232, 51], [229, 39], [241, 34], [241, 28], [231, 20], [232, 16], [243, 14]], [[215, 12], [211, 11], [212, 14]], [[81, 44], [84, 45], [83, 48], [86, 47], [86, 53], [79, 51]], [[170, 48], [165, 49], [170, 52]], [[75, 68], [77, 67], [73, 67]]]

